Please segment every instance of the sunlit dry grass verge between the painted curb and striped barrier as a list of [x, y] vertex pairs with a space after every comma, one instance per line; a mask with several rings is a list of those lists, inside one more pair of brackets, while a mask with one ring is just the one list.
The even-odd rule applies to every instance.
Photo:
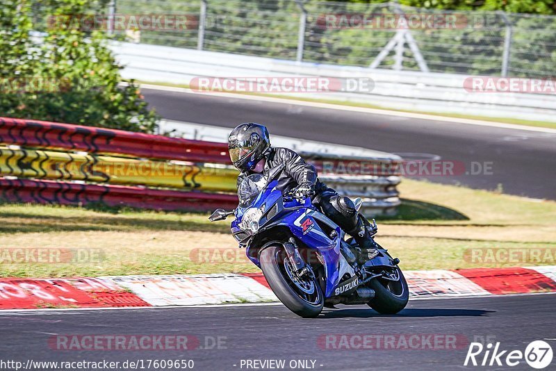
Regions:
[[[553, 249], [556, 202], [404, 179], [400, 214], [378, 218], [377, 241], [405, 270], [554, 265], [473, 262], [470, 249]], [[208, 215], [131, 209], [0, 204], [1, 277], [257, 272], [229, 234]], [[15, 248], [100, 252], [81, 263], [10, 263]], [[200, 256], [199, 248], [209, 258]], [[196, 250], [197, 249], [197, 250]], [[223, 254], [225, 253], [225, 254]], [[227, 255], [226, 255], [227, 254]]]

